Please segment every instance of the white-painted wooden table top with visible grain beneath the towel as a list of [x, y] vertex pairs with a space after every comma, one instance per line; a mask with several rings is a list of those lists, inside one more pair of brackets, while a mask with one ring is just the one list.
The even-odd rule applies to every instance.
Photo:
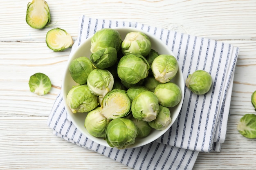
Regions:
[[[27, 25], [28, 2], [0, 3], [0, 169], [130, 169], [56, 137], [46, 124], [61, 91], [70, 49], [53, 52], [45, 35], [60, 27], [76, 40], [82, 14], [137, 21], [239, 46], [225, 143], [221, 152], [200, 153], [193, 169], [256, 169], [256, 139], [236, 130], [240, 117], [255, 113], [250, 99], [256, 90], [255, 0], [47, 0], [53, 25], [43, 30]], [[29, 77], [37, 72], [52, 81], [47, 95], [29, 91]]]

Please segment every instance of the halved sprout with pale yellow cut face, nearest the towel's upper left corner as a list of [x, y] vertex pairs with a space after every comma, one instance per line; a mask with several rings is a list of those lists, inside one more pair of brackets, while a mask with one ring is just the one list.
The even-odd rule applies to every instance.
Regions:
[[74, 44], [71, 35], [60, 28], [49, 30], [46, 34], [45, 41], [49, 49], [53, 51], [64, 51]]

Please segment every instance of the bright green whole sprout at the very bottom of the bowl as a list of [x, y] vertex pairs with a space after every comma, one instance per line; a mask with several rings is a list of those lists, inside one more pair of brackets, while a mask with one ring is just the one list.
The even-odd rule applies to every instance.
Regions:
[[135, 143], [137, 135], [137, 126], [126, 118], [113, 119], [106, 128], [106, 141], [113, 148], [125, 149]]

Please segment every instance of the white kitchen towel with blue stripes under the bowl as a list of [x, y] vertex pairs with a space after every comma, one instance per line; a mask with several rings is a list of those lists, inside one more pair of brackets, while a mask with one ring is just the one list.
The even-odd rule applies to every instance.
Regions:
[[117, 26], [136, 27], [157, 36], [173, 51], [184, 80], [196, 70], [205, 70], [213, 77], [211, 90], [205, 95], [195, 95], [185, 88], [182, 110], [173, 126], [150, 144], [124, 150], [101, 146], [79, 132], [68, 119], [62, 94], [59, 94], [47, 120], [54, 134], [136, 170], [191, 170], [200, 151], [220, 151], [225, 140], [238, 48], [137, 22], [83, 15], [79, 18], [79, 35], [71, 54], [99, 29]]

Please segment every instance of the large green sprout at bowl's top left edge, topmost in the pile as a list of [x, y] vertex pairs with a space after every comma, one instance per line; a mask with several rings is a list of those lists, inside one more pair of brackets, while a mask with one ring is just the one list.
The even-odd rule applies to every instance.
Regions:
[[117, 51], [121, 49], [121, 35], [115, 29], [105, 28], [97, 31], [91, 38], [92, 53], [107, 47], [114, 47]]

